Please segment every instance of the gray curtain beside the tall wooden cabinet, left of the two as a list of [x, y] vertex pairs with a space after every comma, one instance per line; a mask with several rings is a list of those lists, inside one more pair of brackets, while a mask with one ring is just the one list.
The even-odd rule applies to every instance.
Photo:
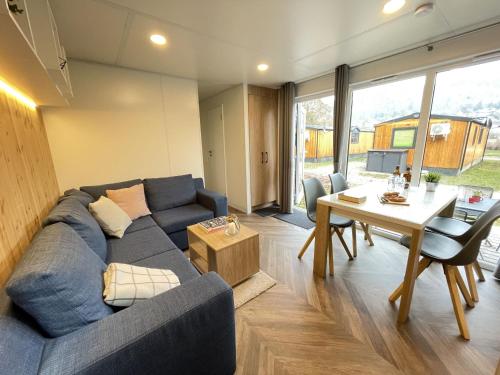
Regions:
[[280, 210], [293, 212], [293, 182], [295, 180], [295, 84], [285, 83], [280, 93]]

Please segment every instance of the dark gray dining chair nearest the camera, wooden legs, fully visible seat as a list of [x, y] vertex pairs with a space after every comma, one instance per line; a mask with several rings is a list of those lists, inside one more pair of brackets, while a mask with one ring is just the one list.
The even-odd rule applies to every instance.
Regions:
[[[470, 335], [460, 296], [458, 295], [458, 289], [462, 292], [469, 307], [474, 307], [474, 301], [457, 267], [469, 266], [474, 263], [479, 253], [479, 248], [481, 247], [481, 241], [490, 230], [493, 222], [499, 217], [500, 202], [497, 202], [488, 212], [481, 215], [462, 235], [450, 238], [439, 233], [426, 232], [422, 241], [421, 254], [423, 257], [418, 264], [417, 277], [429, 267], [432, 262], [442, 264], [460, 334], [466, 340], [470, 339]], [[407, 248], [410, 247], [410, 242], [410, 236], [403, 236], [400, 241], [400, 243]], [[401, 297], [402, 290], [403, 284], [391, 294], [389, 300], [395, 302]]]

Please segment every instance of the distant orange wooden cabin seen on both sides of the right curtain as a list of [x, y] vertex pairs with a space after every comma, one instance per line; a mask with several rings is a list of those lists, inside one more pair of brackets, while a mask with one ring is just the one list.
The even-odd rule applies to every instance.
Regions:
[[[373, 131], [353, 128], [349, 143], [349, 155], [365, 155], [369, 149], [373, 148], [373, 135]], [[333, 160], [333, 129], [307, 125], [305, 151], [307, 162]]]

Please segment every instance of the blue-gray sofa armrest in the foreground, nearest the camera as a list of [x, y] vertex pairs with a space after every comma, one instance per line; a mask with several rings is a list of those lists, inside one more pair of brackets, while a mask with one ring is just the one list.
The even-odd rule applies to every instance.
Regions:
[[41, 374], [233, 374], [232, 289], [216, 273], [49, 340]]

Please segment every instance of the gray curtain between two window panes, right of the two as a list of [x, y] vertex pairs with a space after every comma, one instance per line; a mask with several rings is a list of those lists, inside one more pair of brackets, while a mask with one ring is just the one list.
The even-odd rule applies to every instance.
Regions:
[[339, 171], [340, 154], [346, 146], [344, 122], [347, 112], [347, 95], [349, 92], [349, 65], [343, 64], [335, 68], [335, 114], [333, 117], [333, 171]]

